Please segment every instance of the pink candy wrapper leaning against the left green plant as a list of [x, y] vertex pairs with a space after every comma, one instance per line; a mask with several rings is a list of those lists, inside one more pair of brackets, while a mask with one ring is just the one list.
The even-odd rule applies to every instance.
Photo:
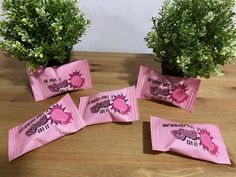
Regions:
[[28, 72], [35, 101], [54, 95], [92, 87], [87, 60], [79, 60], [59, 67], [39, 68]]

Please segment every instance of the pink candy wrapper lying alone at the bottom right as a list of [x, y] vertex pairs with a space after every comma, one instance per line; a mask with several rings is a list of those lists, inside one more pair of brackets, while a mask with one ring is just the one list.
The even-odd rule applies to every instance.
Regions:
[[151, 117], [152, 149], [173, 151], [219, 164], [231, 164], [218, 127], [181, 124]]

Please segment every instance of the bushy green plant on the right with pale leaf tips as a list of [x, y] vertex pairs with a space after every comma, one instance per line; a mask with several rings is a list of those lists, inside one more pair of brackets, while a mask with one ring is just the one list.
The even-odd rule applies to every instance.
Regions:
[[163, 74], [209, 78], [236, 56], [234, 0], [165, 0], [145, 38]]

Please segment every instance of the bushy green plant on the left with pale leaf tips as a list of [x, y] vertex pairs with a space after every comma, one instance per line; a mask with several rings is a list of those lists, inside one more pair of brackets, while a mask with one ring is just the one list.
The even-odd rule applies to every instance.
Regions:
[[89, 20], [76, 0], [3, 0], [0, 48], [30, 69], [64, 63]]

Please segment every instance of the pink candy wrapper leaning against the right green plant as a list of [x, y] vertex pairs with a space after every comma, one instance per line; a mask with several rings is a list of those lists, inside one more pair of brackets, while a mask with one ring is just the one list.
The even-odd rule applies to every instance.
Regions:
[[163, 76], [141, 66], [137, 83], [137, 98], [157, 99], [192, 112], [200, 80]]

